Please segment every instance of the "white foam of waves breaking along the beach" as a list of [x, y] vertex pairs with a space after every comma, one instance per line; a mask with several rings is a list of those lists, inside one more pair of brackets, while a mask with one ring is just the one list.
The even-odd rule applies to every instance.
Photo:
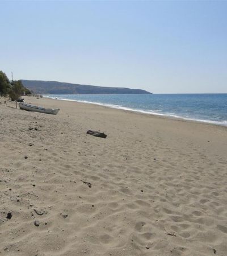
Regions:
[[106, 103], [102, 103], [102, 102], [93, 102], [93, 101], [85, 101], [85, 100], [72, 100], [72, 99], [69, 99], [69, 98], [60, 98], [60, 97], [51, 97], [51, 96], [43, 96], [43, 97], [52, 98], [53, 100], [75, 101], [75, 102], [81, 102], [81, 103], [86, 103], [86, 104], [106, 106], [107, 108], [112, 108], [112, 109], [127, 110], [127, 111], [131, 111], [131, 112], [142, 113], [142, 114], [161, 115], [163, 117], [171, 117], [171, 118], [183, 119], [183, 120], [188, 120], [188, 121], [211, 123], [213, 125], [227, 126], [227, 121], [213, 121], [213, 120], [207, 120], [207, 119], [196, 119], [196, 118], [182, 117], [180, 115], [169, 114], [169, 113], [165, 113], [165, 114], [157, 113], [161, 110], [155, 110], [157, 112], [154, 112], [153, 110], [132, 109], [132, 108], [124, 107], [124, 106], [119, 106], [119, 105], [114, 105], [114, 104], [106, 104]]

